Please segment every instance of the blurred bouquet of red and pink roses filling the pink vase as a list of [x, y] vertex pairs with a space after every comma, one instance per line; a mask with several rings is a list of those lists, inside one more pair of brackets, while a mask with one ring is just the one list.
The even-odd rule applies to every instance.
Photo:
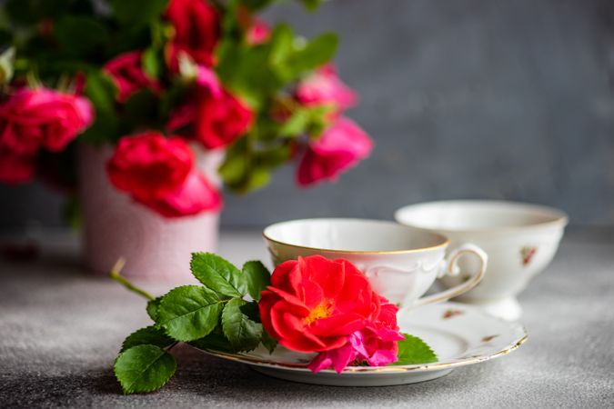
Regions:
[[[8, 0], [0, 18], [0, 181], [74, 182], [75, 138], [115, 145], [109, 180], [168, 217], [222, 200], [195, 152], [223, 149], [231, 190], [297, 162], [297, 184], [335, 179], [369, 154], [343, 112], [356, 103], [330, 59], [257, 17], [274, 0]], [[302, 0], [309, 9], [318, 0]]]

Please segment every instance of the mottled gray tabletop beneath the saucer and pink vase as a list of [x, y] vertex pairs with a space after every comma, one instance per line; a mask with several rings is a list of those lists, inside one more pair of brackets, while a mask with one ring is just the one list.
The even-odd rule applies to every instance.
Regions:
[[[0, 262], [0, 407], [613, 407], [614, 233], [568, 234], [520, 296], [528, 342], [435, 381], [342, 388], [292, 384], [178, 347], [174, 379], [124, 396], [111, 370], [144, 302], [49, 242], [35, 262]], [[53, 245], [51, 245], [53, 244]], [[231, 261], [264, 258], [258, 234], [223, 234]], [[159, 289], [160, 292], [163, 289]]]

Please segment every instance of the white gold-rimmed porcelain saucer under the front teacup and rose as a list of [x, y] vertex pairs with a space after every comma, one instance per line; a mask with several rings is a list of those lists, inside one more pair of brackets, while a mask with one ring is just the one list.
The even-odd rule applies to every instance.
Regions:
[[257, 372], [287, 381], [335, 386], [386, 386], [436, 379], [449, 374], [457, 366], [478, 364], [509, 354], [527, 340], [522, 325], [485, 314], [468, 304], [430, 304], [400, 312], [398, 325], [402, 332], [426, 341], [438, 355], [438, 361], [398, 366], [348, 366], [341, 374], [328, 369], [314, 374], [307, 369], [312, 354], [298, 354], [281, 346], [277, 346], [273, 354], [262, 346], [242, 354], [203, 351], [248, 364]]

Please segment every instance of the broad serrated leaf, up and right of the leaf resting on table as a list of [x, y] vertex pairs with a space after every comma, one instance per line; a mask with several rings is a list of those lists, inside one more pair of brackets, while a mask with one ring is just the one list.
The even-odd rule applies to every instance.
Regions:
[[194, 341], [217, 325], [222, 304], [206, 287], [184, 285], [166, 294], [157, 310], [157, 324], [177, 341]]

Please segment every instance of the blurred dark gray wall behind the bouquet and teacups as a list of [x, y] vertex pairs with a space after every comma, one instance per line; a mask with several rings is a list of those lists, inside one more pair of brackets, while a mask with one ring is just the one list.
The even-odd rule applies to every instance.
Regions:
[[[401, 205], [490, 198], [552, 205], [574, 225], [614, 225], [614, 2], [332, 0], [266, 15], [342, 36], [348, 115], [376, 141], [334, 185], [226, 195], [223, 224], [327, 215], [391, 218]], [[61, 197], [0, 186], [0, 229], [63, 225]]]

